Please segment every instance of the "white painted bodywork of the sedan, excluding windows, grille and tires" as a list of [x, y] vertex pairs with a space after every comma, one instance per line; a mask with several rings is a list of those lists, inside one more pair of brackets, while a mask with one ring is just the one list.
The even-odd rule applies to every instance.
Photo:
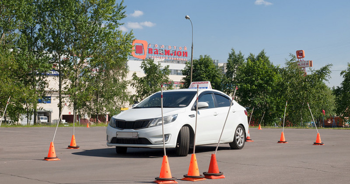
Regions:
[[[196, 89], [180, 89], [178, 91], [196, 91]], [[212, 89], [201, 89], [199, 94], [205, 91], [217, 91]], [[174, 90], [169, 90], [174, 91]], [[163, 91], [165, 93], [166, 91]], [[223, 94], [220, 91], [217, 91]], [[225, 95], [227, 96], [227, 95]], [[227, 96], [230, 98], [229, 96]], [[232, 98], [231, 98], [232, 99]], [[177, 136], [181, 127], [187, 125], [191, 127], [193, 132], [195, 131], [195, 115], [196, 111], [191, 110], [196, 102], [196, 96], [187, 107], [182, 108], [163, 108], [163, 116], [175, 115], [177, 118], [174, 122], [164, 125], [164, 134], [169, 134], [169, 138], [165, 144], [166, 148], [175, 148], [177, 142]], [[196, 145], [216, 144], [220, 137], [229, 107], [208, 108], [199, 109], [197, 117], [197, 135]], [[246, 109], [239, 105], [236, 101], [230, 109], [228, 120], [223, 131], [223, 135], [220, 143], [230, 143], [235, 136], [235, 130], [238, 124], [242, 124], [246, 135], [248, 134], [248, 120], [245, 114]], [[137, 121], [147, 120], [152, 118], [161, 117], [161, 108], [131, 108], [121, 112], [118, 115], [114, 115], [113, 118], [124, 121]], [[112, 139], [116, 137], [118, 132], [138, 132], [139, 138], [147, 138], [152, 144], [117, 144], [111, 143]], [[136, 148], [163, 148], [163, 135], [162, 126], [142, 128], [138, 130], [134, 129], [118, 129], [108, 125], [107, 130], [107, 146], [123, 146], [123, 147], [136, 147]]]

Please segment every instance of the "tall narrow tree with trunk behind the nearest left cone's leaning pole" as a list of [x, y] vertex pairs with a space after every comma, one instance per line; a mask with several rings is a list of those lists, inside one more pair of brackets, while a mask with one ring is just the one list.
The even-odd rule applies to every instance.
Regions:
[[65, 73], [70, 53], [66, 39], [73, 30], [76, 3], [76, 0], [43, 0], [42, 4], [40, 32], [44, 38], [43, 46], [52, 55], [51, 64], [58, 71], [58, 115], [62, 113], [63, 87], [68, 82]]

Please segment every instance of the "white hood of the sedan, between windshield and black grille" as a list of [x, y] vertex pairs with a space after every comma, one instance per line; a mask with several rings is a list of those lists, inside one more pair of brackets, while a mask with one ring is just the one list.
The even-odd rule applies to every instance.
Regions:
[[[163, 108], [163, 116], [179, 114], [185, 111], [186, 108]], [[125, 121], [145, 120], [159, 117], [162, 117], [161, 108], [129, 109], [113, 116], [115, 119]]]

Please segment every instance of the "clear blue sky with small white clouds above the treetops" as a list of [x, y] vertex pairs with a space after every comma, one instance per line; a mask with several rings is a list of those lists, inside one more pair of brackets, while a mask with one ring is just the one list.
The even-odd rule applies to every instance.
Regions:
[[245, 57], [265, 49], [285, 66], [289, 53], [304, 50], [313, 69], [333, 64], [329, 87], [343, 81], [350, 62], [350, 0], [126, 0], [120, 27], [148, 43], [187, 46], [193, 23], [195, 59], [210, 55], [226, 62], [231, 48]]

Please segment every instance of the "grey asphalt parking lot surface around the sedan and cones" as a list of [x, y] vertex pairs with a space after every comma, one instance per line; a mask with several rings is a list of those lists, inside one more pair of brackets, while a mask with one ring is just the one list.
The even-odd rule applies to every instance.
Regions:
[[[117, 155], [106, 146], [105, 127], [77, 127], [80, 149], [66, 149], [72, 127], [59, 127], [54, 146], [60, 161], [43, 161], [48, 156], [55, 128], [0, 128], [0, 183], [153, 183], [159, 177], [162, 149], [129, 148]], [[196, 183], [350, 183], [350, 130], [319, 129], [325, 145], [313, 145], [315, 129], [285, 129], [288, 144], [278, 144], [282, 129], [250, 128], [254, 142], [242, 150], [221, 144], [216, 154], [224, 179]], [[218, 135], [219, 136], [219, 135]], [[207, 172], [216, 145], [197, 146], [200, 172]], [[176, 157], [167, 150], [173, 177], [179, 183], [189, 168], [191, 154]]]

